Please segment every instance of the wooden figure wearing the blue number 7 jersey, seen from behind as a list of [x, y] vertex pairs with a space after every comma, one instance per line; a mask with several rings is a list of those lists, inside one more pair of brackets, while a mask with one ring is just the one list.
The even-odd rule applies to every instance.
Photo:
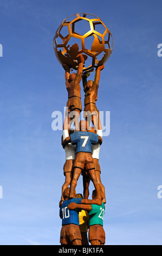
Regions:
[[70, 198], [74, 197], [74, 190], [77, 184], [77, 180], [79, 179], [81, 172], [85, 169], [94, 184], [96, 190], [96, 197], [101, 199], [100, 184], [96, 180], [91, 145], [97, 143], [102, 144], [102, 138], [93, 132], [87, 131], [86, 120], [80, 121], [80, 127], [81, 131], [74, 132], [62, 143], [63, 147], [69, 142], [72, 142], [72, 144], [76, 145], [76, 155], [73, 164], [73, 180], [70, 185]]

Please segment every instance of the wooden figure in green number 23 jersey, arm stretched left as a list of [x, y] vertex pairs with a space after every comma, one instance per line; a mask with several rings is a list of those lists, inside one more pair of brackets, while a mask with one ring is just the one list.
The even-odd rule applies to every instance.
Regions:
[[[96, 191], [93, 191], [92, 198], [96, 197]], [[89, 242], [91, 245], [105, 245], [105, 230], [103, 229], [103, 215], [105, 214], [105, 205], [90, 204], [84, 205], [70, 203], [68, 209], [86, 210], [89, 214]]]

